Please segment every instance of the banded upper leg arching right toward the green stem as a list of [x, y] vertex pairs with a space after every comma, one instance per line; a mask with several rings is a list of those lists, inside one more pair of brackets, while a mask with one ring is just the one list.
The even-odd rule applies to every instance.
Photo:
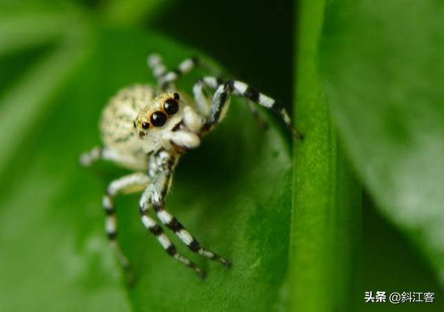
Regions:
[[205, 124], [205, 128], [210, 130], [216, 123], [219, 123], [221, 116], [223, 116], [225, 104], [228, 101], [228, 98], [231, 95], [244, 96], [248, 98], [248, 100], [253, 101], [261, 105], [262, 107], [266, 107], [268, 110], [272, 110], [277, 113], [278, 116], [284, 121], [287, 127], [291, 130], [294, 137], [296, 139], [302, 139], [302, 136], [293, 125], [291, 125], [291, 119], [287, 110], [282, 107], [278, 102], [275, 101], [274, 98], [266, 96], [248, 86], [246, 83], [243, 83], [238, 80], [228, 80], [224, 83], [221, 83], [220, 79], [215, 77], [205, 77], [203, 78], [203, 83], [205, 85], [212, 87], [216, 90], [214, 92], [214, 96], [212, 99], [212, 106], [210, 109], [210, 116], [208, 117], [207, 123]]

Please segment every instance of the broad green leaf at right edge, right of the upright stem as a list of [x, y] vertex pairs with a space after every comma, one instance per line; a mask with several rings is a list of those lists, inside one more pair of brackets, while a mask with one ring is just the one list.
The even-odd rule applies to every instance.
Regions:
[[356, 170], [442, 283], [443, 18], [440, 1], [329, 1], [319, 57]]

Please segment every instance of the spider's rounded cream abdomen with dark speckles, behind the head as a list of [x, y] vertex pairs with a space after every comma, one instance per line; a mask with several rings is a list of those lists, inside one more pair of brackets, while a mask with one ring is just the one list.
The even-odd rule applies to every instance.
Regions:
[[135, 131], [137, 114], [155, 96], [149, 85], [134, 85], [122, 89], [102, 112], [100, 130], [103, 144], [122, 154], [142, 154], [141, 140]]

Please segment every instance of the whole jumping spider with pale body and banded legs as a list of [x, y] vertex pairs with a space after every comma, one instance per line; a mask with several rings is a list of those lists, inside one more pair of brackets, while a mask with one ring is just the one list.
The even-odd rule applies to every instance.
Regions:
[[[103, 196], [105, 229], [123, 268], [128, 272], [128, 278], [132, 277], [130, 263], [117, 241], [113, 198], [117, 194], [135, 191], [143, 191], [139, 201], [142, 223], [171, 257], [185, 263], [200, 277], [205, 277], [203, 270], [176, 250], [162, 227], [148, 214], [151, 208], [158, 220], [171, 229], [191, 251], [225, 266], [232, 265], [228, 259], [203, 248], [164, 207], [180, 156], [190, 148], [199, 146], [200, 137], [223, 119], [231, 95], [247, 98], [253, 113], [256, 110], [251, 102], [277, 112], [293, 131], [293, 135], [299, 137], [298, 132], [291, 127], [284, 108], [273, 98], [240, 81], [204, 77], [193, 87], [194, 101], [187, 94], [177, 91], [173, 83], [198, 64], [196, 59], [190, 58], [182, 62], [178, 69], [167, 72], [161, 58], [150, 55], [148, 65], [153, 69], [158, 86], [134, 85], [122, 89], [114, 96], [101, 116], [103, 146], [97, 146], [80, 157], [83, 166], [89, 166], [98, 159], [107, 159], [135, 171], [112, 181]], [[212, 98], [207, 98], [204, 88], [214, 90]]]

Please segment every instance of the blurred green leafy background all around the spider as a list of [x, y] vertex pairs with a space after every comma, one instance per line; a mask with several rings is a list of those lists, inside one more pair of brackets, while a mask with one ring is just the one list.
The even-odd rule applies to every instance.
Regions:
[[[439, 1], [0, 1], [0, 311], [443, 311], [444, 5]], [[232, 259], [198, 280], [118, 198], [128, 288], [86, 171], [110, 96], [189, 55], [278, 99], [305, 135], [228, 118], [167, 205]], [[180, 87], [205, 74], [197, 70]], [[209, 178], [210, 176], [210, 178]], [[209, 182], [210, 181], [210, 182]], [[205, 222], [203, 222], [205, 220]], [[176, 241], [177, 243], [177, 241]], [[365, 303], [365, 291], [435, 293]]]

